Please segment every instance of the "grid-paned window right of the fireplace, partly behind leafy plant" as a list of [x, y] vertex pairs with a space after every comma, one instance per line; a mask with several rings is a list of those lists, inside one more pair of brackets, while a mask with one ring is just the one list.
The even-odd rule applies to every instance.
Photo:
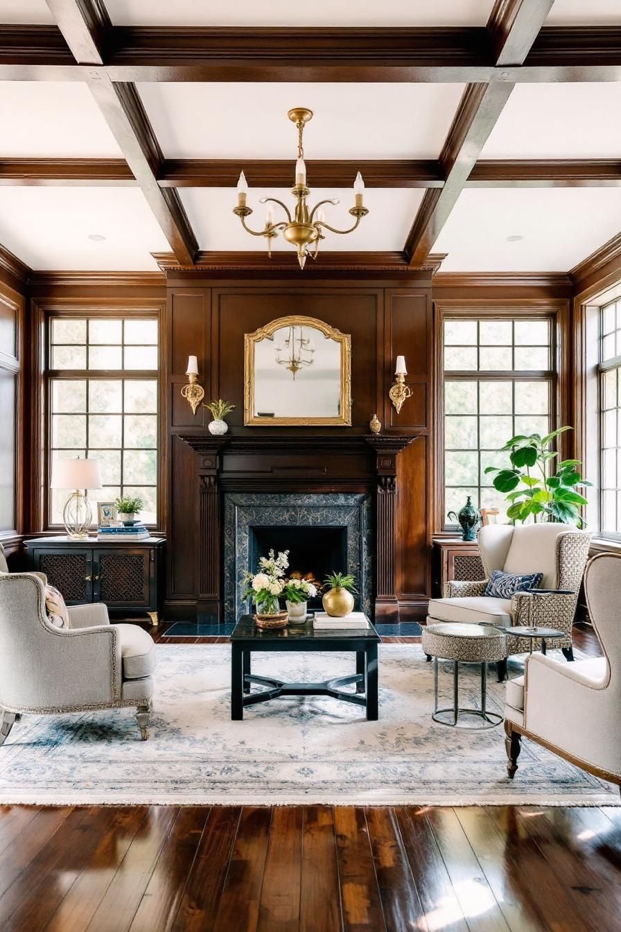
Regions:
[[506, 521], [505, 496], [485, 469], [510, 465], [498, 452], [510, 437], [544, 436], [555, 423], [552, 318], [447, 313], [443, 349], [444, 526], [468, 495]]

